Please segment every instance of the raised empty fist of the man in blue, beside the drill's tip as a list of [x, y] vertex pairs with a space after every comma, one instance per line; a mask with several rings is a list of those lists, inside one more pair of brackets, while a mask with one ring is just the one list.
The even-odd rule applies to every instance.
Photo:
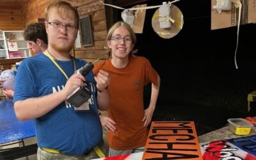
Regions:
[[109, 73], [104, 70], [99, 70], [97, 76], [94, 77], [95, 81], [97, 82], [97, 89], [98, 90], [105, 90], [110, 81]]

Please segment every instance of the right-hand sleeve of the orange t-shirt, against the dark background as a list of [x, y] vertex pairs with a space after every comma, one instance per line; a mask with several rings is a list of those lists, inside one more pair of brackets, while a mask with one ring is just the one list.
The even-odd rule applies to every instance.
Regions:
[[145, 83], [158, 85], [158, 74], [147, 59], [145, 59]]

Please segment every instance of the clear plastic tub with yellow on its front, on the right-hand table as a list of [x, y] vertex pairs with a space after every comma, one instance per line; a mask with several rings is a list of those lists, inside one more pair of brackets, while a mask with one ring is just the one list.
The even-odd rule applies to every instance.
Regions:
[[237, 135], [248, 135], [253, 127], [253, 124], [243, 118], [229, 118], [228, 123], [230, 131]]

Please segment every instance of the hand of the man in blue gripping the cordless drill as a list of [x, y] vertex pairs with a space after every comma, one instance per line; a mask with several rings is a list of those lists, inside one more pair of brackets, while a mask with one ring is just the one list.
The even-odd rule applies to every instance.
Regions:
[[63, 88], [63, 92], [65, 92], [67, 95], [70, 95], [70, 93], [74, 92], [79, 86], [83, 86], [85, 81], [85, 78], [81, 74], [73, 74], [65, 84], [65, 87]]

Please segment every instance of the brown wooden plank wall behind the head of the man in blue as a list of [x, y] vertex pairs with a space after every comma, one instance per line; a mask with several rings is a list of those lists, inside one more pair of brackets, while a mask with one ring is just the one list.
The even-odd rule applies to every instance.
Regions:
[[[53, 0], [56, 1], [56, 0]], [[28, 0], [22, 4], [22, 19], [25, 24], [37, 22], [38, 18], [44, 18], [44, 10], [51, 0]], [[64, 0], [67, 1], [67, 0]], [[73, 6], [77, 6], [80, 17], [90, 15], [92, 24], [93, 45], [74, 48], [76, 58], [93, 61], [97, 58], [108, 59], [108, 53], [104, 49], [107, 27], [105, 7], [99, 0], [68, 0]]]

